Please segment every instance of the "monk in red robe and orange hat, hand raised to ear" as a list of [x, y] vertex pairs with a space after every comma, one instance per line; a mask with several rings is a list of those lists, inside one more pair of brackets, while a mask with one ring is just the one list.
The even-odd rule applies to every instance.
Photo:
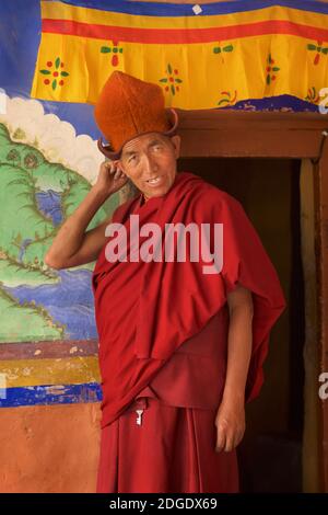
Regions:
[[[178, 116], [159, 85], [112, 73], [95, 119], [107, 160], [45, 261], [96, 260], [97, 492], [238, 492], [245, 403], [285, 307], [279, 278], [239, 202], [177, 173]], [[127, 181], [137, 195], [86, 230]]]

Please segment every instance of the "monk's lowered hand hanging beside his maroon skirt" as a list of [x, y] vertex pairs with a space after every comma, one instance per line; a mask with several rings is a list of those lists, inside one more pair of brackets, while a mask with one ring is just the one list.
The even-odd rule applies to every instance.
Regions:
[[245, 404], [243, 400], [222, 400], [216, 416], [215, 451], [233, 450], [243, 439], [245, 433]]

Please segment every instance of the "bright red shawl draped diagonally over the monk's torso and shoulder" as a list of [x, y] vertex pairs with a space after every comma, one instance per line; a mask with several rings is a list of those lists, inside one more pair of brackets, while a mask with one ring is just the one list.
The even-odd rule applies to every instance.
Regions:
[[[208, 263], [201, 259], [130, 262], [129, 247], [126, 262], [109, 262], [105, 256], [107, 243], [104, 245], [92, 282], [99, 335], [102, 427], [115, 421], [175, 351], [225, 307], [226, 295], [237, 283], [253, 293], [254, 300], [253, 354], [246, 387], [246, 399], [253, 399], [262, 384], [270, 330], [285, 306], [277, 273], [235, 198], [197, 175], [181, 172], [164, 196], [152, 197], [143, 205], [140, 201], [138, 196], [114, 214], [113, 221], [124, 224], [128, 236], [132, 213], [139, 215], [140, 227], [155, 222], [163, 234], [165, 224], [210, 224], [211, 228], [223, 224], [223, 268], [220, 274], [204, 274], [202, 267]], [[147, 239], [140, 238], [140, 244]], [[222, 321], [221, 334], [226, 335], [229, 317]]]

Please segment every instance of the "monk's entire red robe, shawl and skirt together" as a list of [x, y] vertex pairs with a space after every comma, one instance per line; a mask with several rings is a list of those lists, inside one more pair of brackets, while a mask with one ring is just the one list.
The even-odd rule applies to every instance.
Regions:
[[[278, 276], [241, 204], [191, 173], [177, 174], [162, 197], [141, 205], [139, 195], [119, 206], [113, 222], [124, 224], [128, 234], [131, 214], [139, 215], [140, 227], [155, 222], [162, 233], [165, 224], [223, 224], [223, 268], [203, 274], [201, 255], [198, 262], [131, 262], [129, 244], [127, 261], [108, 262], [104, 245], [93, 274], [104, 396], [98, 491], [236, 491], [235, 451], [214, 451], [226, 295], [237, 284], [253, 294], [249, 401], [261, 387], [269, 333], [284, 309]], [[148, 425], [138, 425], [136, 410], [149, 407], [142, 415]]]

